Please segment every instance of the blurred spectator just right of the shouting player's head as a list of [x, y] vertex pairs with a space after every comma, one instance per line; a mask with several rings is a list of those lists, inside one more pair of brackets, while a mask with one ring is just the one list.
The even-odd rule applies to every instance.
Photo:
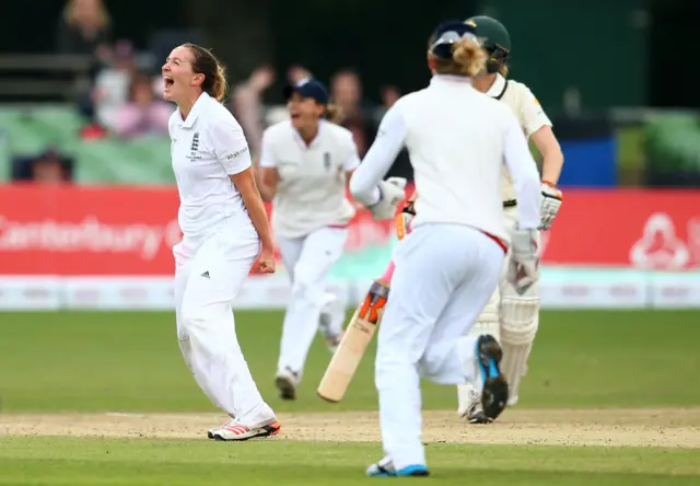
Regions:
[[257, 68], [250, 77], [234, 91], [231, 111], [241, 124], [254, 154], [260, 153], [262, 141], [262, 94], [275, 82], [275, 69], [270, 66]]

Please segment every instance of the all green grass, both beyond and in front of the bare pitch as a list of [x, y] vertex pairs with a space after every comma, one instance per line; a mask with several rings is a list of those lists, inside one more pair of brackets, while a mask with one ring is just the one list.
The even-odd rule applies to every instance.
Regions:
[[[546, 312], [518, 408], [699, 406], [700, 313]], [[300, 400], [277, 398], [281, 314], [236, 314], [238, 336], [277, 412], [376, 409], [372, 348], [340, 405], [315, 387], [317, 340]], [[454, 409], [452, 386], [423, 386]], [[2, 413], [211, 412], [179, 356], [172, 313], [0, 314]], [[7, 418], [7, 417], [5, 417]], [[700, 484], [699, 449], [430, 443], [428, 483], [537, 486]], [[2, 436], [0, 485], [350, 485], [378, 443]], [[406, 481], [392, 481], [405, 484]], [[412, 483], [412, 482], [411, 482]]]

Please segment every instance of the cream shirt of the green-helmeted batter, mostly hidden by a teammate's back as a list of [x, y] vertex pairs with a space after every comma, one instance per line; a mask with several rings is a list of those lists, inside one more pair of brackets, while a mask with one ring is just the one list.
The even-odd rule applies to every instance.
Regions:
[[[495, 81], [486, 94], [501, 101], [511, 108], [526, 137], [529, 138], [544, 126], [551, 127], [549, 117], [547, 117], [541, 105], [525, 84], [506, 80], [501, 74], [497, 74]], [[504, 167], [503, 200], [512, 199], [515, 199], [515, 189], [513, 188], [511, 174]]]

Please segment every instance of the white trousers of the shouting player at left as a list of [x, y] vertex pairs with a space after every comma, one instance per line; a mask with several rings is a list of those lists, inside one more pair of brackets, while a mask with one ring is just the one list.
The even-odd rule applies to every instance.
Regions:
[[228, 220], [173, 247], [177, 337], [187, 367], [211, 400], [243, 424], [275, 416], [243, 357], [232, 301], [260, 251], [253, 224]]

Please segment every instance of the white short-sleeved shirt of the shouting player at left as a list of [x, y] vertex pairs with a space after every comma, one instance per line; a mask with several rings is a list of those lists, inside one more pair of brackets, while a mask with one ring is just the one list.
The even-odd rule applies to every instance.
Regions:
[[183, 120], [168, 121], [171, 157], [179, 193], [178, 222], [186, 235], [201, 235], [224, 220], [253, 224], [229, 175], [252, 166], [241, 125], [221, 103], [202, 93]]

